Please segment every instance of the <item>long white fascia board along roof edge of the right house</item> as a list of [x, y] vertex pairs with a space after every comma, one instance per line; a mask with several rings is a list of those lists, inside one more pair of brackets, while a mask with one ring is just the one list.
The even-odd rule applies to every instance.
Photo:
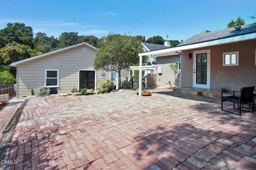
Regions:
[[186, 50], [186, 49], [208, 47], [208, 46], [214, 46], [214, 45], [220, 45], [220, 44], [228, 44], [228, 43], [250, 40], [250, 39], [255, 39], [255, 38], [256, 38], [256, 33], [249, 33], [249, 34], [242, 35], [242, 36], [235, 36], [235, 37], [223, 38], [223, 39], [218, 39], [218, 40], [212, 40], [212, 41], [207, 41], [204, 43], [197, 43], [197, 44], [184, 45], [184, 46], [178, 46], [178, 47], [172, 47], [172, 48], [166, 48], [166, 49], [159, 49], [159, 50], [155, 50], [155, 51], [151, 51], [151, 52], [139, 53], [138, 55], [139, 56], [161, 55], [163, 53], [171, 53], [171, 52], [177, 52], [177, 51]]

